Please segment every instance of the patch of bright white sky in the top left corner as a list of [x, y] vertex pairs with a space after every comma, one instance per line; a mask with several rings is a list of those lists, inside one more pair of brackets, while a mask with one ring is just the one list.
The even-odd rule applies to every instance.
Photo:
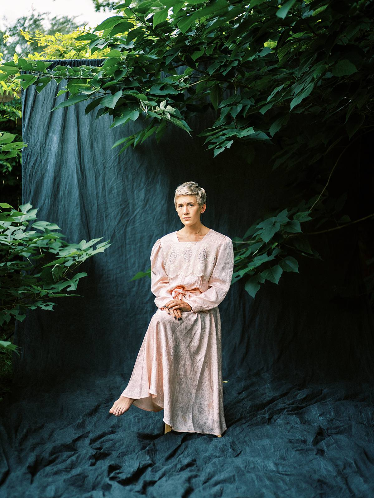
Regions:
[[[50, 12], [49, 17], [77, 16], [75, 22], [80, 26], [86, 24], [86, 28], [94, 28], [107, 17], [116, 15], [115, 11], [95, 12], [92, 0], [0, 0], [0, 28], [4, 27], [3, 16], [6, 17], [6, 24], [10, 24], [18, 17], [31, 13], [32, 7], [37, 12]], [[47, 29], [49, 26], [44, 27]]]

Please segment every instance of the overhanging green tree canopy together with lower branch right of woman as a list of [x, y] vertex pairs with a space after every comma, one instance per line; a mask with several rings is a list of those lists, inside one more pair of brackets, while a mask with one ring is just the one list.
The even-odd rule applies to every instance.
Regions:
[[[91, 54], [109, 49], [101, 66], [50, 69], [47, 62], [18, 58], [0, 66], [0, 80], [19, 80], [23, 88], [36, 85], [37, 92], [52, 80], [68, 80], [54, 110], [86, 102], [86, 114], [94, 112], [97, 119], [109, 114], [111, 126], [141, 120], [139, 131], [113, 144], [119, 153], [151, 135], [159, 141], [166, 126], [192, 134], [191, 117], [207, 112], [214, 120], [200, 136], [214, 156], [238, 144], [272, 147], [273, 170], [282, 168], [295, 184], [314, 175], [308, 187], [303, 184], [313, 200], [299, 203], [301, 211], [290, 208], [260, 221], [234, 240], [238, 248], [246, 246], [236, 250], [235, 279], [245, 276], [254, 296], [265, 280], [277, 283], [282, 271], [297, 271], [293, 259], [284, 262], [288, 244], [281, 250], [279, 244], [292, 236], [298, 242], [288, 250], [316, 256], [299, 224], [312, 223], [303, 218], [310, 216], [316, 228], [335, 204], [342, 209], [339, 199], [328, 196], [330, 176], [347, 148], [374, 126], [372, 2], [146, 0], [134, 5], [125, 0], [115, 10], [76, 38]], [[328, 174], [322, 189], [316, 178]], [[349, 218], [341, 220], [343, 226]], [[294, 234], [287, 234], [291, 229]], [[272, 266], [275, 257], [283, 262]], [[260, 265], [266, 269], [260, 271]]]

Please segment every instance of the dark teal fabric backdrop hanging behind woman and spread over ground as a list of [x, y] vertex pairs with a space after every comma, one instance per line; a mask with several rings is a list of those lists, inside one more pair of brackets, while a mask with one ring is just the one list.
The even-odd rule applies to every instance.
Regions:
[[111, 118], [85, 116], [85, 103], [49, 112], [66, 98], [56, 98], [62, 86], [22, 94], [22, 202], [70, 242], [112, 245], [81, 267], [84, 297], [17, 327], [21, 356], [0, 403], [1, 498], [372, 497], [373, 317], [355, 230], [314, 236], [322, 259], [300, 259], [299, 274], [267, 282], [255, 300], [244, 282], [231, 287], [220, 305], [222, 438], [163, 435], [162, 411], [109, 414], [156, 311], [150, 280], [129, 280], [149, 267], [159, 237], [182, 228], [176, 187], [198, 182], [204, 225], [231, 238], [293, 191], [266, 147], [250, 165], [244, 147], [213, 159], [196, 136], [208, 115], [189, 122], [193, 138], [174, 127], [118, 156], [111, 145], [140, 123], [109, 129]]

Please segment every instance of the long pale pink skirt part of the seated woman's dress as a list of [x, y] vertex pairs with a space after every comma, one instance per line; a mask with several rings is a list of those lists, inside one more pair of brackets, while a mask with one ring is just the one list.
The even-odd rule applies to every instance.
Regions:
[[164, 409], [177, 432], [221, 435], [223, 414], [221, 320], [218, 307], [153, 315], [122, 396], [149, 411]]

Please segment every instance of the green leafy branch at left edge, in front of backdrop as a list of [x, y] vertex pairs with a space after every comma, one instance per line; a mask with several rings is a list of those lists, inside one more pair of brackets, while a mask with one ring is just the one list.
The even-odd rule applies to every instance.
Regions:
[[[111, 245], [98, 244], [102, 237], [69, 244], [57, 225], [36, 221], [37, 209], [31, 208], [25, 204], [16, 211], [0, 203], [0, 326], [12, 318], [22, 321], [27, 309], [53, 310], [56, 298], [79, 296], [79, 279], [87, 273], [76, 268]], [[5, 342], [0, 349], [14, 349]]]

